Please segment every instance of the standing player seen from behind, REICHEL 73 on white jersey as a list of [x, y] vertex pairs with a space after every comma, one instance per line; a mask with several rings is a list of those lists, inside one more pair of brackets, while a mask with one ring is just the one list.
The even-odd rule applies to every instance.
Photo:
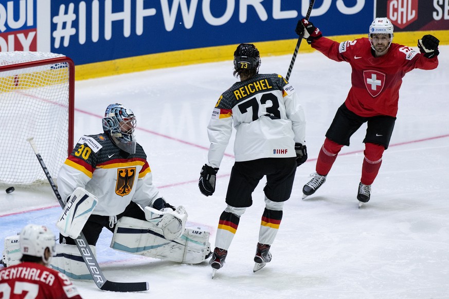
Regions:
[[236, 162], [232, 167], [227, 207], [220, 216], [215, 249], [209, 264], [223, 267], [239, 226], [240, 216], [252, 205], [252, 193], [266, 176], [265, 210], [259, 231], [257, 271], [271, 261], [284, 201], [290, 198], [296, 167], [307, 160], [306, 120], [293, 86], [279, 74], [259, 74], [260, 55], [253, 44], [240, 44], [234, 53], [234, 76], [240, 78], [219, 98], [207, 127], [208, 161], [202, 167], [199, 188], [209, 196], [228, 145], [232, 125]]

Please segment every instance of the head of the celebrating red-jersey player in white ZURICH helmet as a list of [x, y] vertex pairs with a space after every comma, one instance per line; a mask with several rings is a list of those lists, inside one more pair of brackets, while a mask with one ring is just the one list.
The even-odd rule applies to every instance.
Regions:
[[393, 24], [386, 17], [376, 17], [369, 26], [368, 38], [375, 51], [386, 51], [393, 41]]

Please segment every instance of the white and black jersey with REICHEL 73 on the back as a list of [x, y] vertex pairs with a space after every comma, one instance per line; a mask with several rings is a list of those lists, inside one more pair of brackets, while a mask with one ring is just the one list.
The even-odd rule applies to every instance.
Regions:
[[296, 157], [295, 142], [305, 143], [303, 108], [293, 86], [279, 74], [257, 74], [220, 96], [207, 127], [210, 166], [220, 166], [232, 125], [237, 162]]

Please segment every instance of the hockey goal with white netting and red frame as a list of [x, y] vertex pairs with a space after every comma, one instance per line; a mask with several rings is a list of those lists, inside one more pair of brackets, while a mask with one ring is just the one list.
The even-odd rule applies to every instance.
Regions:
[[0, 184], [47, 182], [28, 137], [57, 178], [73, 149], [74, 89], [74, 63], [64, 55], [0, 52]]

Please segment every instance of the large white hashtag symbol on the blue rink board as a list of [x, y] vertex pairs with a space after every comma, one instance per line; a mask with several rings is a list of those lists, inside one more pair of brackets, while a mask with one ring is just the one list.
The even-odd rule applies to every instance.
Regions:
[[53, 31], [52, 34], [53, 38], [55, 38], [55, 48], [59, 48], [61, 45], [61, 38], [64, 38], [64, 47], [67, 47], [70, 41], [70, 35], [76, 33], [76, 29], [71, 27], [71, 23], [76, 18], [75, 13], [73, 12], [74, 6], [73, 3], [70, 3], [66, 14], [65, 5], [61, 4], [59, 7], [59, 14], [53, 17], [53, 23], [56, 24], [56, 30]]

